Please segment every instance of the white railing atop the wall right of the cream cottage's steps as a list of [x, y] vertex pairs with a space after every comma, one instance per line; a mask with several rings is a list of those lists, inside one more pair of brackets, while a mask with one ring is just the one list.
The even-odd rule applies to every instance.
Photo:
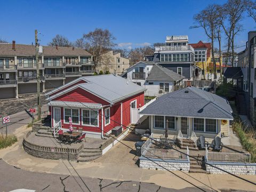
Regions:
[[251, 154], [216, 153], [206, 149], [205, 156], [209, 162], [251, 163]]

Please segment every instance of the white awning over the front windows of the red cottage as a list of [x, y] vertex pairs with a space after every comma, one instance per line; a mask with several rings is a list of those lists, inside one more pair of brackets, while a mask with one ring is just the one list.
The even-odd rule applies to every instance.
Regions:
[[100, 103], [85, 103], [85, 102], [70, 102], [70, 101], [50, 101], [47, 103], [48, 106], [54, 107], [79, 107], [79, 108], [89, 108], [89, 109], [101, 109], [102, 105]]

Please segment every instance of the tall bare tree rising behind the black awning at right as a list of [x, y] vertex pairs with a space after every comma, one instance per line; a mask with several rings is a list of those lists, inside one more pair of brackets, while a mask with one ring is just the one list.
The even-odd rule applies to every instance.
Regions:
[[226, 17], [226, 22], [223, 22], [222, 27], [225, 31], [225, 34], [228, 37], [228, 52], [229, 55], [229, 44], [231, 47], [231, 63], [234, 67], [235, 59], [235, 37], [243, 29], [243, 26], [240, 22], [243, 19], [243, 13], [246, 10], [246, 1], [245, 0], [228, 0], [226, 4], [222, 6], [222, 15]]

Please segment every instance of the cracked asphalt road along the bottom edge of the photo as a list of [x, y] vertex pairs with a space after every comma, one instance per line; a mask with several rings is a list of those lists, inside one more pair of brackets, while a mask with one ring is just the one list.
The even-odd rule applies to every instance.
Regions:
[[79, 175], [60, 175], [49, 173], [38, 173], [21, 170], [0, 160], [0, 191], [15, 189], [30, 189], [36, 191], [131, 191], [131, 192], [167, 192], [167, 191], [198, 191], [197, 188], [186, 188], [182, 190], [169, 189], [137, 181], [113, 181], [98, 178], [84, 178]]

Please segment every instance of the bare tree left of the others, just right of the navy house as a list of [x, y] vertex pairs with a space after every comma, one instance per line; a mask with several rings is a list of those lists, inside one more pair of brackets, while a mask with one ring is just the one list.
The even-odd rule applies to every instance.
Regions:
[[197, 13], [194, 16], [194, 21], [197, 23], [196, 26], [192, 26], [190, 28], [203, 28], [205, 34], [208, 38], [211, 39], [212, 44], [212, 59], [213, 59], [213, 73], [214, 79], [217, 78], [217, 70], [216, 70], [216, 62], [214, 58], [214, 39], [216, 38], [216, 30], [217, 30], [217, 18], [218, 15], [218, 5], [212, 4], [208, 5], [204, 10]]

